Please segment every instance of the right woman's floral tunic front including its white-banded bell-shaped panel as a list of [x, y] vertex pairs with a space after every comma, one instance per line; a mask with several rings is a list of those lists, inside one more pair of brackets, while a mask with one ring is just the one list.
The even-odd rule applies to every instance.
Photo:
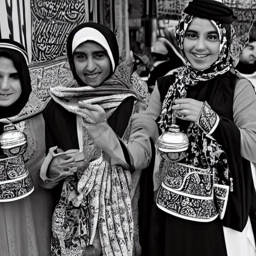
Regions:
[[182, 163], [161, 156], [158, 176], [163, 181], [156, 204], [169, 214], [193, 221], [212, 221], [218, 214], [223, 217], [228, 193], [215, 195], [219, 190], [214, 187], [229, 190], [226, 154], [195, 123], [186, 133], [189, 147]]

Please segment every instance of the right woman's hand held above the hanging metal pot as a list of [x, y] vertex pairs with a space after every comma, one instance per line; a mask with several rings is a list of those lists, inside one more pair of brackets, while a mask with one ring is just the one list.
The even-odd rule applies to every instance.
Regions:
[[174, 101], [172, 109], [174, 115], [182, 120], [196, 122], [203, 102], [193, 98], [177, 98]]

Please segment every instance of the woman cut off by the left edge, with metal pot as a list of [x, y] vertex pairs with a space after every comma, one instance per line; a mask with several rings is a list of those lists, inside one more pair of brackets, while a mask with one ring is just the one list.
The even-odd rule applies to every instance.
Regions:
[[1, 256], [50, 255], [53, 200], [38, 185], [45, 103], [32, 92], [27, 64], [20, 43], [0, 39]]

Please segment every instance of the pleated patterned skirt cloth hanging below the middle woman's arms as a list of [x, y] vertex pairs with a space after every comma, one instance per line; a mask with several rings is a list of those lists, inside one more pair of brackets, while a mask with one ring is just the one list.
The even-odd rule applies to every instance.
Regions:
[[[127, 132], [128, 127], [124, 138]], [[103, 255], [132, 255], [136, 213], [131, 194], [136, 177], [103, 160], [84, 126], [83, 151], [84, 165], [64, 181], [53, 214], [51, 255], [84, 255], [88, 245], [100, 246], [98, 242]], [[95, 239], [97, 228], [100, 241]]]

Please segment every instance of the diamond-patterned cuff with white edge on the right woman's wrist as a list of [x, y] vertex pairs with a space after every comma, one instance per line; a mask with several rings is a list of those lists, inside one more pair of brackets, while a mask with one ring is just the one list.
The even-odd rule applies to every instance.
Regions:
[[211, 134], [219, 122], [218, 115], [211, 109], [209, 104], [204, 101], [197, 121], [195, 122], [203, 132]]

